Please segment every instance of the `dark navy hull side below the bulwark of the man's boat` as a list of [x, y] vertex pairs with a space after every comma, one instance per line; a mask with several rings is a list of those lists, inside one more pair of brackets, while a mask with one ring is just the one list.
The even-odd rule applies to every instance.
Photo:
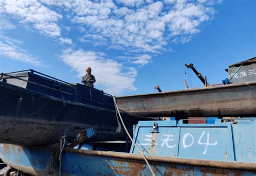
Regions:
[[[123, 113], [127, 128], [145, 120]], [[59, 142], [63, 135], [70, 142], [76, 135], [93, 128], [91, 141], [125, 140], [111, 109], [72, 102], [33, 90], [0, 82], [0, 143], [41, 145]]]

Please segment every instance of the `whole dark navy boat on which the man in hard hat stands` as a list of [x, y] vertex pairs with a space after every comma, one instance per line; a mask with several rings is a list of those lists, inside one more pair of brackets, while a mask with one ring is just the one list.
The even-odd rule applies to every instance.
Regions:
[[[129, 132], [145, 118], [122, 112]], [[125, 140], [112, 96], [103, 91], [52, 78], [32, 69], [2, 73], [0, 143], [42, 145], [93, 128], [91, 141]]]

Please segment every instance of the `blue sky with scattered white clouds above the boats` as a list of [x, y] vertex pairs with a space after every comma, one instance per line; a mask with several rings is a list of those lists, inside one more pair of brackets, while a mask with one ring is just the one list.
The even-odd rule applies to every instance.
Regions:
[[[151, 93], [227, 78], [228, 65], [256, 56], [256, 1], [3, 1], [0, 72], [35, 69], [114, 95]], [[185, 72], [187, 74], [185, 74]]]

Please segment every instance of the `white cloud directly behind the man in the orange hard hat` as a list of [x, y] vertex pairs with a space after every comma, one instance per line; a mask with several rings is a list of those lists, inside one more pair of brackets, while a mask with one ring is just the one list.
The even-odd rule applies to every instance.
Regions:
[[78, 72], [78, 76], [85, 74], [86, 67], [92, 68], [92, 74], [96, 77], [95, 86], [103, 87], [106, 93], [122, 94], [123, 91], [133, 91], [137, 71], [132, 67], [124, 67], [112, 59], [106, 59], [106, 55], [100, 52], [83, 50], [65, 50], [60, 59]]

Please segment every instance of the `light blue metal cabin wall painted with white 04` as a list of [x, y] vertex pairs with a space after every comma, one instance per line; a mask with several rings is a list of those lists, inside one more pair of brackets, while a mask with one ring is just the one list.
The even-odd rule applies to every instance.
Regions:
[[[215, 123], [186, 124], [185, 120], [139, 122], [134, 141], [150, 156], [241, 161], [256, 163], [256, 123], [254, 119], [235, 119]], [[153, 124], [158, 133], [152, 133]], [[134, 145], [131, 153], [139, 154]]]

